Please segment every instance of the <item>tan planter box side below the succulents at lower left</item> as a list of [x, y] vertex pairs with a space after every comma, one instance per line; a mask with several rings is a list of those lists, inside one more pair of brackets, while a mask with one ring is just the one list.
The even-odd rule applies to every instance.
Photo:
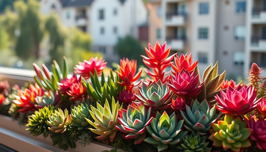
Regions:
[[25, 130], [26, 128], [26, 126], [19, 126], [18, 122], [13, 121], [11, 117], [0, 115], [0, 144], [19, 152], [101, 152], [104, 150], [110, 151], [114, 148], [110, 145], [91, 141], [91, 144], [85, 147], [81, 147], [77, 142], [75, 149], [69, 148], [67, 151], [64, 151], [57, 146], [53, 146], [50, 137], [44, 139], [42, 135], [37, 137], [31, 136], [29, 131]]

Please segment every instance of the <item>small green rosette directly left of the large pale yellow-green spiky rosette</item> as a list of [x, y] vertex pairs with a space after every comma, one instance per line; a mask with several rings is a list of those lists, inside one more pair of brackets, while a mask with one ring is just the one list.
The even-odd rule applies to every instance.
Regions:
[[85, 118], [91, 119], [91, 114], [89, 112], [89, 106], [85, 103], [81, 103], [77, 107], [75, 106], [71, 109], [71, 126], [77, 127], [78, 130], [85, 130], [90, 127], [90, 124]]

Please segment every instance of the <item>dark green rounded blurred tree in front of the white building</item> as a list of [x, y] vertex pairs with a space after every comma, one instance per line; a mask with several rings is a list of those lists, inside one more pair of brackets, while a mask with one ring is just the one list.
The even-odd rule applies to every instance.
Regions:
[[140, 55], [144, 55], [145, 50], [134, 37], [128, 35], [119, 39], [115, 46], [115, 51], [120, 58], [136, 59], [137, 65], [143, 65]]

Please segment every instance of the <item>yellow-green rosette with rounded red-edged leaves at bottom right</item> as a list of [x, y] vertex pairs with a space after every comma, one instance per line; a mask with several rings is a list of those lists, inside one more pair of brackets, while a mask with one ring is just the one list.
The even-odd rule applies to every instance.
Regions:
[[231, 115], [226, 114], [224, 121], [212, 124], [209, 139], [213, 141], [213, 146], [239, 152], [243, 148], [251, 146], [248, 140], [251, 132], [252, 129], [247, 128], [246, 120], [242, 120], [240, 116], [233, 118]]

